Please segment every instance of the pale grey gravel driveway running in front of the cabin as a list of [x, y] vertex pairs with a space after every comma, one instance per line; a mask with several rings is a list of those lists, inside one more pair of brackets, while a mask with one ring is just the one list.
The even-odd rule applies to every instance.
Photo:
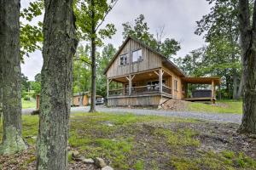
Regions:
[[[90, 107], [73, 107], [71, 113], [87, 112]], [[23, 109], [23, 114], [29, 114], [33, 109]], [[157, 116], [174, 116], [181, 118], [194, 118], [211, 122], [234, 122], [241, 123], [241, 115], [239, 114], [219, 114], [219, 113], [199, 113], [192, 111], [164, 111], [164, 110], [148, 110], [148, 109], [129, 109], [129, 108], [108, 108], [102, 105], [96, 106], [96, 111], [108, 113], [133, 113], [136, 115], [157, 115]]]

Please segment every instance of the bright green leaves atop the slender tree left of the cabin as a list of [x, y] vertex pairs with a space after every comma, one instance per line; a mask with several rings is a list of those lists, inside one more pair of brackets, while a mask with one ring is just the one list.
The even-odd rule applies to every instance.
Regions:
[[[102, 45], [102, 39], [112, 37], [116, 29], [113, 24], [102, 26], [106, 16], [117, 3], [117, 0], [76, 0], [74, 2], [74, 13], [76, 15], [76, 26], [78, 27], [78, 36], [80, 39], [90, 41], [92, 37], [96, 38], [96, 44]], [[92, 27], [95, 28], [92, 31]]]

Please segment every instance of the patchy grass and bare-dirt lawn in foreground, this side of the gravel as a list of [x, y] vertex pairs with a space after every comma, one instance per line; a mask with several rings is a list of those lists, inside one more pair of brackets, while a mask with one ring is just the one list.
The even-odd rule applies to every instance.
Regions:
[[[30, 150], [0, 156], [0, 169], [34, 165], [38, 116], [22, 118]], [[237, 127], [164, 116], [72, 114], [69, 146], [86, 158], [102, 157], [118, 170], [256, 169], [256, 139], [238, 135]], [[75, 165], [69, 156], [69, 168], [82, 169], [71, 168]]]

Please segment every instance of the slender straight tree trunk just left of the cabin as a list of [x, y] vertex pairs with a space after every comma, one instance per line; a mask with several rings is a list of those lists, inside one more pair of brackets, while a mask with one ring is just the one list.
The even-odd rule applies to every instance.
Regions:
[[96, 24], [95, 20], [95, 2], [91, 0], [91, 94], [90, 94], [90, 112], [96, 112]]

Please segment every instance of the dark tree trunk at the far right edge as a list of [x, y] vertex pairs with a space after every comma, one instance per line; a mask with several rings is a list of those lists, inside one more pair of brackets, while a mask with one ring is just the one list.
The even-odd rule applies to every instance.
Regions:
[[253, 26], [250, 24], [248, 0], [239, 1], [239, 10], [244, 91], [243, 115], [238, 132], [256, 134], [256, 2]]

